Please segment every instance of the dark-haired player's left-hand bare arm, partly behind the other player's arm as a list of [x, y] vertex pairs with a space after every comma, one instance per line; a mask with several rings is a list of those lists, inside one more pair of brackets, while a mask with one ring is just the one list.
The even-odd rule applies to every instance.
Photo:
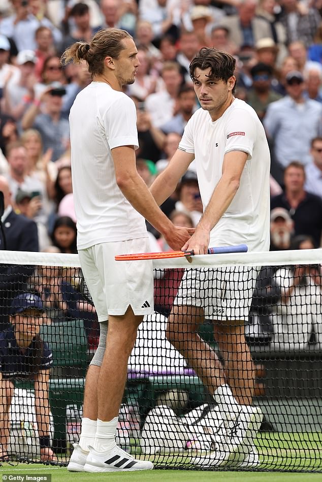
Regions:
[[150, 186], [150, 191], [158, 206], [172, 195], [178, 182], [194, 160], [195, 154], [177, 149], [166, 169]]

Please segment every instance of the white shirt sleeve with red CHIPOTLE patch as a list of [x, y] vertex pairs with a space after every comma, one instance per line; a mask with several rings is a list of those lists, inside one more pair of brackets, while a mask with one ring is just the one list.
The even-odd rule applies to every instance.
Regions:
[[242, 151], [248, 154], [248, 158], [251, 158], [256, 133], [257, 128], [251, 113], [245, 109], [234, 110], [225, 125], [224, 154], [231, 151]]

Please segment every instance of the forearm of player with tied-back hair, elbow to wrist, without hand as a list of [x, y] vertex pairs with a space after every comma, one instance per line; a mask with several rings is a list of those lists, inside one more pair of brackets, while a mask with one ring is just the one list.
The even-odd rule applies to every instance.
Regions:
[[152, 226], [167, 235], [173, 224], [160, 210], [143, 179], [137, 175], [117, 182], [124, 197]]

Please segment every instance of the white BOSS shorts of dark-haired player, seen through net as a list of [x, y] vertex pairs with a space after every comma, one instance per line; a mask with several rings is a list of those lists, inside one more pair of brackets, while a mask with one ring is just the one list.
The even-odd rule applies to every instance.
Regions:
[[250, 266], [186, 269], [173, 304], [203, 308], [211, 319], [247, 319], [257, 274]]

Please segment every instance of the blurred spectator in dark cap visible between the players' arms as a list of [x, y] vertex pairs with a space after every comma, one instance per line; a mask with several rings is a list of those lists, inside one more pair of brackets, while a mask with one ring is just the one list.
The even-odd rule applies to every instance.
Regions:
[[203, 212], [197, 174], [194, 171], [187, 171], [182, 176], [177, 190], [179, 200], [175, 205], [176, 211], [187, 213], [194, 227], [197, 226]]

